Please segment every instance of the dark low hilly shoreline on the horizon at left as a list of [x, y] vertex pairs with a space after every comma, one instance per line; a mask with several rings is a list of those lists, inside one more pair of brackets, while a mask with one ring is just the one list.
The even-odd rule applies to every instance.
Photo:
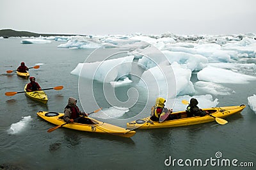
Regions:
[[[15, 31], [13, 29], [1, 29], [0, 30], [0, 37], [9, 38], [9, 37], [20, 37], [20, 36], [76, 36], [76, 35], [65, 35], [65, 34], [38, 34], [38, 33], [31, 33], [28, 31]], [[81, 35], [84, 36], [84, 35]]]

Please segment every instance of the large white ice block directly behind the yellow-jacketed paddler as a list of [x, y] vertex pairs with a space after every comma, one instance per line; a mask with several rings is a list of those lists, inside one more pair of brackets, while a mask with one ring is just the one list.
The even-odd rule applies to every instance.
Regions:
[[[168, 62], [167, 62], [168, 63]], [[155, 66], [148, 69], [141, 75], [139, 86], [147, 86], [151, 89], [151, 96], [175, 97], [175, 95], [191, 94], [195, 92], [190, 81], [191, 70], [182, 68], [178, 63], [171, 65]], [[156, 92], [156, 93], [154, 93]]]

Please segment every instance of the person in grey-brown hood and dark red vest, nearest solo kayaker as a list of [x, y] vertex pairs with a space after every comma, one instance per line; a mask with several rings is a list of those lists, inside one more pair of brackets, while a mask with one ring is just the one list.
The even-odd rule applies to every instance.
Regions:
[[88, 117], [88, 114], [86, 112], [80, 111], [76, 104], [77, 104], [76, 98], [73, 98], [73, 97], [68, 98], [68, 104], [64, 109], [63, 120], [67, 123], [76, 122], [76, 123], [83, 123], [83, 124], [89, 124], [89, 125], [95, 124], [90, 120], [90, 118], [86, 118]]

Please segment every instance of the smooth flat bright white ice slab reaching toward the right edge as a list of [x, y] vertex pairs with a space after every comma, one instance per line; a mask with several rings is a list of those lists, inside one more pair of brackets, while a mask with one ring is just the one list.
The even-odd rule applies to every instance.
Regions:
[[201, 81], [233, 84], [244, 84], [248, 83], [249, 81], [256, 80], [256, 77], [250, 75], [235, 73], [231, 70], [225, 70], [223, 68], [216, 68], [213, 66], [207, 66], [203, 70], [198, 72], [197, 78]]

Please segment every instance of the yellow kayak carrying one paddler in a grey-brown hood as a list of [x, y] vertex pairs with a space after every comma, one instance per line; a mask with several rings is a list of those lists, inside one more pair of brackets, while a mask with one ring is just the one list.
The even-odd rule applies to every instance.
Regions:
[[[37, 115], [54, 125], [63, 125], [65, 123], [65, 121], [63, 121], [62, 119], [64, 113], [39, 111], [37, 112]], [[68, 123], [66, 125], [63, 125], [62, 127], [85, 132], [94, 132], [99, 134], [118, 135], [122, 137], [132, 137], [136, 133], [134, 130], [127, 130], [125, 128], [111, 125], [106, 122], [98, 121], [93, 118], [88, 119], [90, 119], [93, 122], [92, 125], [83, 123]]]

